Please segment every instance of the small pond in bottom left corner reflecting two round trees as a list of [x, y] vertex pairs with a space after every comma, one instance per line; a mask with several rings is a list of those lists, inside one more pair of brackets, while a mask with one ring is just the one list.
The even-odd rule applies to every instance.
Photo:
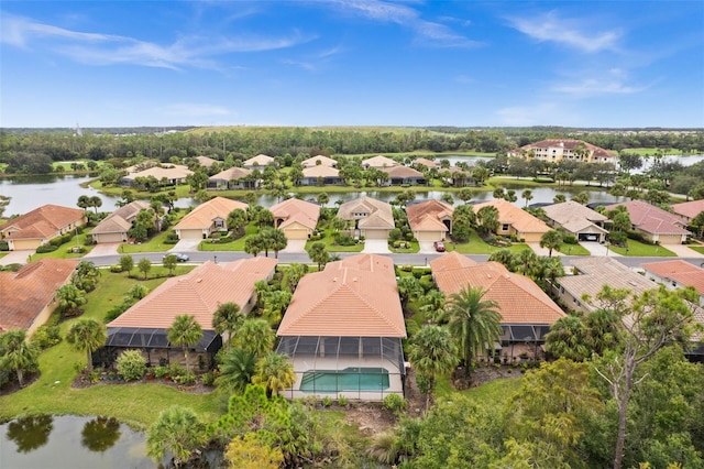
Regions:
[[108, 417], [32, 416], [0, 425], [0, 468], [160, 467], [145, 435]]

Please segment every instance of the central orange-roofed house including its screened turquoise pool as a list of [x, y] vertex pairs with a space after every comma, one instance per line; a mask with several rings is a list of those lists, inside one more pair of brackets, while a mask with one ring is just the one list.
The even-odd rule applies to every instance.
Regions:
[[387, 257], [352, 255], [304, 276], [276, 335], [296, 373], [286, 397], [404, 394], [406, 325]]

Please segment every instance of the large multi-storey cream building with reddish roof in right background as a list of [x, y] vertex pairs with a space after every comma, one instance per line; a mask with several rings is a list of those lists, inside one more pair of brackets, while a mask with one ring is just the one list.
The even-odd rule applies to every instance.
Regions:
[[509, 157], [539, 160], [549, 163], [575, 161], [579, 163], [614, 163], [618, 157], [615, 153], [582, 140], [549, 139], [530, 143], [508, 152]]

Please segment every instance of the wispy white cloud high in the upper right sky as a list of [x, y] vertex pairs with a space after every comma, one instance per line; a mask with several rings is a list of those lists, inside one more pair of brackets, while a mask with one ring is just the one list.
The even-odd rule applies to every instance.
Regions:
[[539, 42], [554, 42], [586, 53], [615, 51], [622, 32], [598, 31], [588, 20], [560, 18], [554, 11], [532, 18], [509, 18], [512, 26]]

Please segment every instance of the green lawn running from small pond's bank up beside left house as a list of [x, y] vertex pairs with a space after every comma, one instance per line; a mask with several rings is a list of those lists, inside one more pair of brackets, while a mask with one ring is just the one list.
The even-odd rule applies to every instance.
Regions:
[[[178, 266], [177, 274], [190, 271], [191, 266]], [[152, 275], [166, 272], [154, 269]], [[136, 273], [136, 270], [133, 271]], [[96, 290], [88, 294], [88, 303], [81, 317], [102, 320], [113, 305], [121, 303], [124, 294], [140, 283], [154, 290], [166, 277], [140, 281], [125, 274], [101, 271]], [[62, 335], [77, 319], [62, 323]], [[212, 422], [220, 414], [226, 397], [219, 392], [189, 394], [174, 388], [155, 383], [101, 384], [87, 389], [73, 389], [72, 382], [79, 369], [86, 364], [86, 355], [75, 351], [66, 341], [44, 351], [40, 357], [41, 377], [28, 388], [0, 397], [0, 419], [10, 419], [25, 414], [106, 415], [139, 427], [148, 426], [164, 408], [177, 404], [191, 407], [204, 421]]]

